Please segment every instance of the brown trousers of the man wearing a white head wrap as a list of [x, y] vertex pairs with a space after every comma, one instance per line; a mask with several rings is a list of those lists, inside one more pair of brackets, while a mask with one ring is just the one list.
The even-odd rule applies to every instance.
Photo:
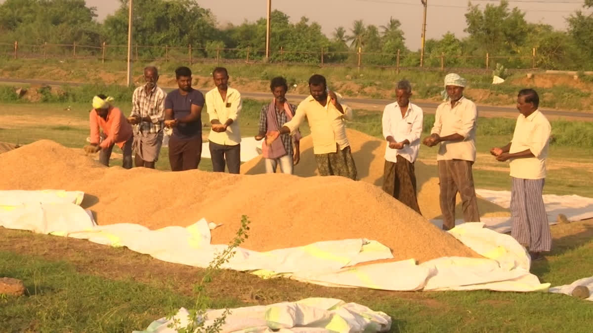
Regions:
[[457, 193], [461, 196], [464, 222], [480, 222], [474, 177], [471, 172], [472, 164], [473, 162], [462, 159], [438, 161], [444, 230], [455, 228], [455, 200], [457, 199]]

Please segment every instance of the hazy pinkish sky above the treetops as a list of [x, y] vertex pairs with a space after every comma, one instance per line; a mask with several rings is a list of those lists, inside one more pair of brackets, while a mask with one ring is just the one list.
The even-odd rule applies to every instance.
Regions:
[[[201, 7], [209, 8], [219, 24], [231, 22], [241, 24], [244, 20], [254, 21], [266, 15], [266, 0], [199, 0]], [[579, 0], [518, 0], [510, 1], [511, 7], [527, 12], [528, 21], [551, 24], [565, 30], [566, 17], [581, 8]], [[499, 1], [473, 0], [473, 4], [484, 6]], [[118, 6], [118, 0], [87, 0], [87, 4], [97, 7], [98, 19], [102, 20]], [[272, 9], [279, 9], [298, 21], [307, 16], [323, 27], [323, 32], [331, 36], [334, 28], [342, 25], [350, 31], [352, 21], [364, 20], [366, 24], [384, 25], [390, 17], [400, 20], [405, 33], [406, 44], [410, 49], [420, 46], [422, 28], [422, 4], [420, 0], [272, 0]], [[426, 37], [439, 38], [447, 31], [458, 37], [465, 36], [464, 14], [466, 0], [428, 0], [426, 18]]]

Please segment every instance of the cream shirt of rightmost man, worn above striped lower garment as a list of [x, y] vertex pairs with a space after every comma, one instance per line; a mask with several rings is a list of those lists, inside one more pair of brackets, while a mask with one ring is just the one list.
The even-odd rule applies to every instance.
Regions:
[[551, 126], [543, 113], [535, 110], [528, 117], [519, 114], [509, 153], [529, 149], [535, 157], [511, 159], [511, 177], [546, 178], [546, 158], [550, 145]]

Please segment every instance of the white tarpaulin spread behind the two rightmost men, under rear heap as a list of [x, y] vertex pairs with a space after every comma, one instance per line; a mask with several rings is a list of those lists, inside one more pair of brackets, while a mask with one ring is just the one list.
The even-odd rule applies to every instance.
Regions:
[[[492, 203], [498, 204], [505, 209], [511, 209], [510, 191], [492, 191], [477, 189], [476, 194]], [[580, 221], [593, 218], [593, 198], [581, 196], [556, 196], [555, 194], [544, 194], [544, 205], [550, 225], [555, 225], [557, 216], [564, 214], [569, 221]], [[431, 222], [436, 226], [442, 226], [442, 220], [434, 219]], [[487, 228], [496, 232], [505, 233], [511, 231], [511, 217], [480, 217], [480, 222]], [[463, 224], [463, 219], [455, 220], [455, 225]]]

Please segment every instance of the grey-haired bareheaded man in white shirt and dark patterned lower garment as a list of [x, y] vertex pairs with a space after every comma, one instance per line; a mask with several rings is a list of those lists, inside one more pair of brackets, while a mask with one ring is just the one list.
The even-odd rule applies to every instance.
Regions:
[[422, 108], [410, 103], [412, 85], [397, 82], [397, 102], [383, 110], [383, 137], [387, 140], [383, 190], [420, 214], [416, 197], [414, 162], [420, 148]]

